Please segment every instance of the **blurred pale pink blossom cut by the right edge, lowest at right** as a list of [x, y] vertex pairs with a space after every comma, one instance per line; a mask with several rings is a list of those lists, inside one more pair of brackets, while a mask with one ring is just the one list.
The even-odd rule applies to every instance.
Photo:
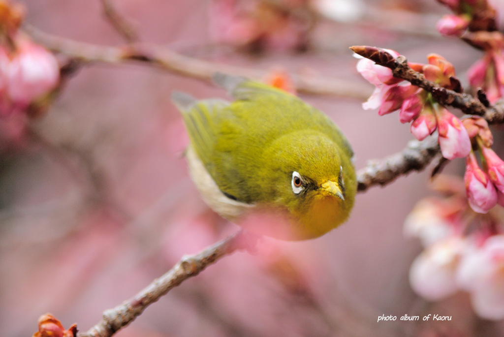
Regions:
[[456, 280], [470, 292], [479, 316], [504, 318], [504, 235], [491, 236], [483, 246], [465, 254]]

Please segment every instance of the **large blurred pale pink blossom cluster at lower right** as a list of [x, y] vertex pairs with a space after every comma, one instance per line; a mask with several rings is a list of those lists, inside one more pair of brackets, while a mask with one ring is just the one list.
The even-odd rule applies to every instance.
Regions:
[[425, 248], [411, 265], [412, 288], [431, 301], [466, 291], [479, 316], [504, 318], [502, 209], [474, 213], [459, 178], [439, 176], [434, 187], [445, 196], [420, 200], [405, 221]]

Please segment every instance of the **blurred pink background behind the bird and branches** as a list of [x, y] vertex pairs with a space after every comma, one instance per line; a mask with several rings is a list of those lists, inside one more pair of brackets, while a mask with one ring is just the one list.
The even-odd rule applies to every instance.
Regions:
[[[100, 45], [121, 45], [99, 1], [25, 1], [27, 22], [42, 31]], [[363, 1], [360, 20], [321, 19], [306, 52], [237, 51], [214, 43], [210, 1], [116, 1], [143, 42], [218, 63], [320, 74], [372, 86], [355, 71], [348, 47], [375, 45], [426, 62], [435, 52], [464, 76], [479, 52], [435, 32], [448, 10], [434, 0]], [[362, 13], [361, 13], [362, 14]], [[374, 21], [373, 21], [374, 20]], [[383, 27], [383, 28], [380, 28]], [[223, 90], [142, 64], [84, 66], [33, 134], [0, 159], [0, 335], [31, 336], [54, 314], [81, 331], [103, 310], [134, 296], [184, 254], [238, 228], [209, 211], [188, 178], [187, 143], [172, 90], [199, 98]], [[413, 137], [397, 114], [364, 111], [362, 100], [302, 98], [342, 128], [367, 160], [402, 150]], [[498, 146], [497, 146], [498, 150]], [[463, 160], [447, 171], [463, 173]], [[265, 239], [258, 253], [235, 253], [182, 283], [118, 336], [495, 336], [502, 321], [474, 315], [466, 294], [429, 303], [410, 288], [418, 240], [403, 237], [417, 200], [431, 193], [429, 171], [358, 194], [348, 221], [305, 242]], [[385, 314], [396, 321], [377, 322]], [[404, 314], [420, 321], [400, 321]], [[451, 315], [424, 322], [423, 315]]]

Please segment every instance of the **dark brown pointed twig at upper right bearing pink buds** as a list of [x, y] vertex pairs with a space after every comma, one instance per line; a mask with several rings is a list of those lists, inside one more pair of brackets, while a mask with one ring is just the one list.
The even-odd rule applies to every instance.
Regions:
[[411, 84], [428, 91], [439, 103], [453, 106], [467, 114], [482, 116], [490, 124], [504, 122], [504, 106], [501, 104], [485, 106], [472, 95], [458, 93], [439, 86], [434, 82], [427, 81], [423, 74], [414, 71], [408, 65], [406, 57], [403, 55], [394, 58], [393, 55], [383, 49], [369, 46], [353, 46], [350, 47], [350, 49], [352, 49], [355, 53], [376, 62], [376, 64], [390, 68], [394, 77], [406, 80]]

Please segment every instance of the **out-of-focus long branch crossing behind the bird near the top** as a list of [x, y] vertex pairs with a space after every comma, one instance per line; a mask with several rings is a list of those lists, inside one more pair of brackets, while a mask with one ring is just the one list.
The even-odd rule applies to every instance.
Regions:
[[[24, 28], [37, 43], [54, 52], [64, 54], [80, 64], [94, 62], [120, 64], [137, 61], [204, 81], [210, 81], [215, 72], [253, 79], [262, 79], [267, 74], [267, 71], [184, 56], [168, 49], [161, 49], [159, 46], [148, 44], [131, 44], [124, 47], [99, 46], [46, 34], [31, 26]], [[365, 92], [360, 83], [352, 83], [348, 80], [301, 74], [293, 74], [292, 80], [299, 93], [353, 97], [362, 100], [366, 99], [370, 93], [370, 90]]]

